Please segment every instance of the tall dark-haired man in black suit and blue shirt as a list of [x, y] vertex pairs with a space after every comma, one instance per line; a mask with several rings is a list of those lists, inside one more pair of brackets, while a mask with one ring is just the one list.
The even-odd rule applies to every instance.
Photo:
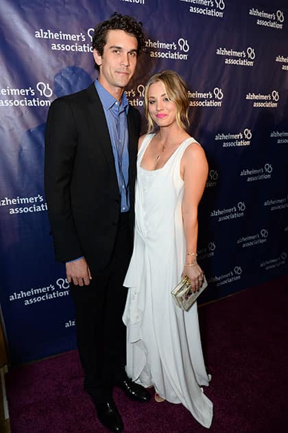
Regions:
[[138, 401], [149, 393], [125, 373], [126, 289], [132, 254], [134, 181], [141, 118], [124, 89], [143, 47], [141, 23], [115, 12], [95, 27], [99, 78], [51, 104], [45, 190], [56, 260], [66, 263], [75, 305], [84, 389], [112, 432], [123, 422], [113, 386]]

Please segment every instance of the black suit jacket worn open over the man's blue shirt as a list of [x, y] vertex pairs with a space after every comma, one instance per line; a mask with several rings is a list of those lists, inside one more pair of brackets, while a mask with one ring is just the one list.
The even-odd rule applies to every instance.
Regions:
[[[139, 111], [128, 110], [130, 225]], [[45, 137], [45, 192], [56, 260], [85, 256], [95, 271], [108, 265], [121, 199], [104, 109], [94, 83], [51, 104]]]

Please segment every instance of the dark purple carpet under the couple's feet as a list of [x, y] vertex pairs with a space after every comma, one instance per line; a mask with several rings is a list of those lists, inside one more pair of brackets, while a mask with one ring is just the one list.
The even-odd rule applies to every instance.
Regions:
[[[200, 307], [211, 432], [288, 432], [287, 301], [285, 277]], [[12, 433], [107, 432], [82, 392], [76, 351], [15, 368], [6, 386]], [[181, 405], [134, 403], [121, 390], [114, 397], [125, 433], [207, 431]]]

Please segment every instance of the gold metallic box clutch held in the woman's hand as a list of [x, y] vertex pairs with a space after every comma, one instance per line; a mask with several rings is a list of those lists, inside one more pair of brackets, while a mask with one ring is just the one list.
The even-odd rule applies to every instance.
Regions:
[[175, 304], [182, 308], [184, 311], [188, 311], [189, 308], [194, 304], [198, 296], [206, 289], [208, 283], [204, 276], [204, 281], [199, 291], [193, 292], [188, 277], [184, 277], [174, 289], [171, 290], [172, 298]]

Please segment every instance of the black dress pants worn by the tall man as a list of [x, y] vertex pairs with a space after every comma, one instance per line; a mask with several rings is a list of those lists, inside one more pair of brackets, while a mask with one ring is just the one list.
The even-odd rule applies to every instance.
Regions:
[[115, 381], [126, 377], [126, 328], [122, 315], [127, 297], [123, 280], [132, 254], [128, 218], [128, 212], [120, 216], [108, 267], [92, 275], [88, 286], [70, 285], [84, 389], [98, 402], [109, 399]]

